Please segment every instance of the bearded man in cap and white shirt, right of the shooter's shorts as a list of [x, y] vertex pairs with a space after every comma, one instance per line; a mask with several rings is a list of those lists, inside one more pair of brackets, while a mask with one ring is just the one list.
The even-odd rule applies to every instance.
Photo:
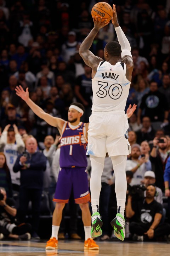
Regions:
[[138, 185], [144, 178], [146, 171], [151, 170], [151, 162], [141, 156], [141, 148], [139, 144], [133, 144], [131, 147], [131, 159], [126, 161], [126, 171], [133, 172], [131, 186]]

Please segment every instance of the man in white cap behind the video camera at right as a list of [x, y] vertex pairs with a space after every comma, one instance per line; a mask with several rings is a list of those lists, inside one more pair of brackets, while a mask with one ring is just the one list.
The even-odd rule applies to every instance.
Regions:
[[[146, 171], [144, 174], [144, 179], [142, 183], [147, 187], [148, 185], [155, 184], [155, 181], [156, 181], [155, 173], [153, 171]], [[144, 195], [146, 196], [146, 191], [144, 192]], [[156, 193], [155, 193], [154, 199], [158, 203], [163, 204], [163, 193], [159, 187], [156, 187]]]

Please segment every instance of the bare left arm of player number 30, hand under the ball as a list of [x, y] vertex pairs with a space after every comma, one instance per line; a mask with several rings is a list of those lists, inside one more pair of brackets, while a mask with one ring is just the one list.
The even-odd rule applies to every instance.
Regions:
[[102, 21], [102, 18], [101, 19], [96, 18], [95, 20], [94, 17], [93, 17], [93, 21], [94, 21], [94, 28], [91, 30], [88, 36], [84, 39], [83, 43], [81, 43], [79, 48], [79, 54], [88, 66], [90, 66], [92, 69], [95, 69], [95, 67], [97, 69], [98, 64], [103, 59], [95, 56], [89, 49], [98, 31], [102, 27], [105, 27], [106, 25], [108, 25], [109, 21], [108, 22], [106, 22], [106, 20]]

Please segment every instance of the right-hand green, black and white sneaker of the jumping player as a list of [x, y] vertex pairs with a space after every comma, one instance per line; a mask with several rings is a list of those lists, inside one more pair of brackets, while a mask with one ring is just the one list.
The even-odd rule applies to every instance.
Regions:
[[111, 226], [114, 229], [114, 235], [120, 239], [125, 239], [125, 219], [120, 213], [116, 214], [116, 218], [111, 221]]

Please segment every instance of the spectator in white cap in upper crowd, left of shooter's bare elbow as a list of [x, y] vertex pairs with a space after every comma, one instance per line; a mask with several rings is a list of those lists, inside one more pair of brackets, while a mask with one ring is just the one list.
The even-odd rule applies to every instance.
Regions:
[[63, 60], [68, 63], [70, 57], [74, 55], [75, 51], [79, 49], [80, 43], [76, 40], [76, 33], [74, 31], [68, 32], [67, 41], [62, 44], [61, 56]]

